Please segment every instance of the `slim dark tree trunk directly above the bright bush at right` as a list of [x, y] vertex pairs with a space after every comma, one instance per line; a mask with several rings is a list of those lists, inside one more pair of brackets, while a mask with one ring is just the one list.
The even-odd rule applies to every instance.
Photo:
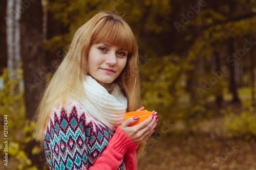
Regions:
[[[234, 53], [233, 39], [229, 38], [229, 54], [231, 55], [232, 53]], [[229, 69], [230, 69], [229, 91], [233, 94], [232, 103], [241, 103], [237, 93], [237, 84], [235, 79], [236, 75], [234, 72], [235, 66], [236, 65], [233, 62], [229, 63]]]

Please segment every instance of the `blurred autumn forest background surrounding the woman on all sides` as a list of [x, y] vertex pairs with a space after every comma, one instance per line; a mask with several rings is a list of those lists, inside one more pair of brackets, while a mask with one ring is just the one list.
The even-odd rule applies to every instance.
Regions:
[[31, 140], [40, 93], [105, 10], [133, 29], [142, 103], [160, 119], [138, 169], [256, 169], [255, 0], [0, 1], [0, 168], [48, 169]]

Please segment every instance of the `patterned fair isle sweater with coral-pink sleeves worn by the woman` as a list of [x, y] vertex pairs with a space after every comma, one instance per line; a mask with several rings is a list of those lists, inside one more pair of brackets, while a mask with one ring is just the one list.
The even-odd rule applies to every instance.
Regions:
[[51, 110], [44, 147], [50, 169], [137, 169], [137, 144], [120, 127], [112, 132], [77, 101]]

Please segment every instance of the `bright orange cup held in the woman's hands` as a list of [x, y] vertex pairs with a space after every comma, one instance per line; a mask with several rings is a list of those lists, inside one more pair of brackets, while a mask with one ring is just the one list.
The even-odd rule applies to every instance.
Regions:
[[134, 126], [134, 125], [138, 125], [138, 124], [142, 123], [145, 119], [147, 119], [151, 115], [153, 115], [153, 113], [150, 111], [147, 111], [147, 110], [128, 112], [128, 113], [124, 114], [124, 121], [131, 117], [139, 116], [139, 119], [137, 120], [137, 122], [130, 125], [130, 126]]

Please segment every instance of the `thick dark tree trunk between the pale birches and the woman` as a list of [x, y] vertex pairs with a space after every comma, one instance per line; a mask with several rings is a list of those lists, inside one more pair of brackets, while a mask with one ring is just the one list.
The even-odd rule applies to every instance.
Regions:
[[[25, 81], [26, 118], [31, 120], [39, 103], [39, 96], [45, 87], [44, 71], [45, 52], [42, 38], [42, 6], [41, 1], [23, 0], [25, 10], [22, 13], [22, 60]], [[39, 155], [32, 154], [37, 143], [27, 143], [26, 153], [32, 165], [42, 169], [45, 159], [39, 160]]]

